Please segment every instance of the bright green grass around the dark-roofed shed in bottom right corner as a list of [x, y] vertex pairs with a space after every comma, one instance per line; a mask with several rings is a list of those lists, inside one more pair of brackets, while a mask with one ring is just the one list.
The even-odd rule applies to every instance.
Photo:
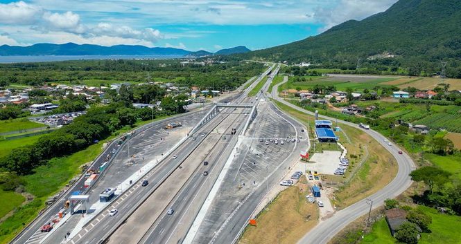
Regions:
[[[422, 233], [419, 244], [461, 243], [461, 234], [459, 232], [460, 216], [439, 214], [437, 209], [430, 207], [418, 206], [418, 208], [432, 217], [432, 224], [429, 225], [431, 233]], [[390, 235], [388, 224], [382, 218], [374, 223], [372, 232], [366, 234], [360, 244], [390, 244], [396, 242], [397, 240]]]

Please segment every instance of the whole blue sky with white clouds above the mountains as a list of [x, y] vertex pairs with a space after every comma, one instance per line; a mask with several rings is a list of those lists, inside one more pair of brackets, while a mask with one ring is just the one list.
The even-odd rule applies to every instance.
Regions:
[[318, 35], [397, 0], [0, 0], [0, 45], [252, 50]]

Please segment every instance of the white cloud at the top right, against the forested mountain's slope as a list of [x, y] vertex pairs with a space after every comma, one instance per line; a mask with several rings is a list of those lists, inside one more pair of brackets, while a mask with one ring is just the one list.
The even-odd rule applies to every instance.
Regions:
[[350, 19], [362, 20], [383, 12], [396, 2], [397, 0], [339, 0], [332, 8], [317, 8], [313, 17], [320, 24], [324, 24], [326, 30]]

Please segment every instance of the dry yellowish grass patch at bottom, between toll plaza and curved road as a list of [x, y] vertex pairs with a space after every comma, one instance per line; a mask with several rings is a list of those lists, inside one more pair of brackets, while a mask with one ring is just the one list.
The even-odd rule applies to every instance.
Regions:
[[298, 187], [282, 191], [256, 218], [258, 226], [245, 229], [239, 243], [296, 243], [318, 223], [318, 207], [308, 203], [305, 195]]

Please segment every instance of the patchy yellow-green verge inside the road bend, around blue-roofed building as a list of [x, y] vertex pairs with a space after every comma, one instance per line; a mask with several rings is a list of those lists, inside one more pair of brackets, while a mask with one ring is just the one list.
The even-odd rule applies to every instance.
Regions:
[[[297, 118], [300, 122], [304, 124], [308, 122], [313, 124], [313, 116], [299, 113], [280, 102], [275, 102], [275, 104], [277, 104], [282, 111]], [[382, 189], [385, 185], [388, 185], [397, 174], [398, 167], [390, 153], [369, 135], [343, 124], [340, 124], [340, 127], [351, 140], [351, 143], [349, 143], [342, 133], [339, 134], [342, 138], [341, 143], [346, 147], [349, 153], [349, 158], [351, 155], [360, 157], [360, 154], [364, 154], [359, 144], [363, 144], [363, 146], [366, 144], [369, 151], [369, 157], [364, 162], [364, 166], [358, 170], [348, 184], [341, 186], [340, 189], [335, 192], [335, 199], [331, 200], [336, 207], [342, 208], [356, 203], [357, 200], [365, 198], [379, 191], [379, 189]], [[353, 162], [355, 163], [355, 161], [355, 159], [351, 159], [351, 165]], [[337, 179], [337, 177], [334, 176], [325, 177], [326, 182], [328, 182], [330, 178]]]

